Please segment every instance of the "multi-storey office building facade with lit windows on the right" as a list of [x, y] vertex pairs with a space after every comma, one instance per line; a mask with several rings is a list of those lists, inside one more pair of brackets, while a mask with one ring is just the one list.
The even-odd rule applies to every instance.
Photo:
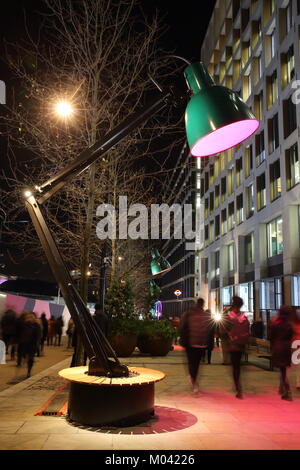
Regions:
[[241, 296], [267, 336], [280, 305], [300, 305], [300, 2], [218, 0], [201, 57], [261, 125], [201, 162], [197, 294], [212, 311]]

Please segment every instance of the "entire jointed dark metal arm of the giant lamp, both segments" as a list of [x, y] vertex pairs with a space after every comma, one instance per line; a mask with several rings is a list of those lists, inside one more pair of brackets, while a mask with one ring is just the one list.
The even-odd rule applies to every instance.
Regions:
[[131, 131], [137, 128], [139, 124], [166, 106], [170, 104], [176, 105], [182, 102], [183, 99], [184, 97], [178, 94], [178, 92], [176, 93], [173, 88], [160, 93], [150, 104], [133, 116], [125, 119], [115, 130], [108, 133], [102, 141], [84, 150], [74, 162], [40, 186], [38, 190], [41, 195], [38, 198], [35, 198], [31, 193], [30, 196], [26, 196], [26, 208], [90, 359], [89, 375], [122, 377], [128, 376], [129, 371], [125, 365], [119, 362], [110, 343], [96, 322], [93, 321], [89, 310], [77, 292], [59, 248], [46, 223], [41, 206], [68, 181], [86, 170], [113, 145], [119, 143]]

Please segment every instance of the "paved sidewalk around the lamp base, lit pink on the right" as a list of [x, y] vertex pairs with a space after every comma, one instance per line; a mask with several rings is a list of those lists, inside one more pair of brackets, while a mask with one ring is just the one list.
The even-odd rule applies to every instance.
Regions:
[[245, 398], [238, 400], [232, 391], [231, 368], [221, 364], [216, 350], [213, 364], [201, 366], [201, 393], [194, 396], [189, 390], [183, 351], [156, 358], [137, 354], [122, 362], [166, 374], [155, 388], [157, 417], [130, 428], [95, 429], [76, 427], [65, 417], [34, 416], [55, 390], [58, 371], [69, 367], [69, 358], [62, 359], [0, 392], [0, 449], [300, 449], [300, 393], [294, 391], [293, 402], [281, 400], [277, 394], [278, 371], [244, 366]]

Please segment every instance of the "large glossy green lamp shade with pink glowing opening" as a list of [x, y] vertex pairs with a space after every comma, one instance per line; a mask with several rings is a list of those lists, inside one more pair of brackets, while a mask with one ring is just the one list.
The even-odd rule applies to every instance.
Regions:
[[185, 113], [191, 154], [206, 157], [223, 152], [250, 137], [259, 121], [229, 88], [215, 85], [202, 63], [189, 65], [185, 78], [193, 92]]

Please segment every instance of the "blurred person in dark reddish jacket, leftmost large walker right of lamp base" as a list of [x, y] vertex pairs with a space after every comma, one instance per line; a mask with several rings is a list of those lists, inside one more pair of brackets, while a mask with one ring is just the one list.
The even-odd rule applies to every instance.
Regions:
[[180, 345], [186, 350], [188, 369], [194, 393], [199, 391], [197, 375], [201, 358], [208, 347], [211, 315], [204, 310], [204, 300], [199, 298], [194, 307], [184, 313], [180, 324]]

